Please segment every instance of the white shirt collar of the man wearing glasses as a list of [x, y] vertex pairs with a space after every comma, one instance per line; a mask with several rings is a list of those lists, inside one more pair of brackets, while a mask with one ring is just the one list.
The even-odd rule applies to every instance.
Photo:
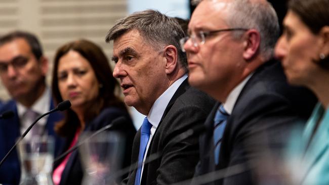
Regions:
[[248, 75], [246, 78], [244, 78], [244, 80], [242, 82], [240, 82], [237, 86], [235, 86], [233, 88], [233, 90], [230, 92], [230, 94], [228, 94], [226, 102], [223, 103], [224, 109], [228, 114], [232, 114], [235, 102], [236, 102], [237, 98], [239, 97], [242, 88], [244, 87], [246, 82], [248, 82], [248, 80], [250, 79], [250, 77], [253, 74], [254, 73], [252, 73], [252, 74]]

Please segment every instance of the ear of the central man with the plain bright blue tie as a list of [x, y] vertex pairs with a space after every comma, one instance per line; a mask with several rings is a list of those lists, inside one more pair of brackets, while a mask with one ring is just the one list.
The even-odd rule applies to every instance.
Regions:
[[178, 65], [178, 51], [174, 45], [167, 45], [165, 48], [166, 74], [171, 74]]

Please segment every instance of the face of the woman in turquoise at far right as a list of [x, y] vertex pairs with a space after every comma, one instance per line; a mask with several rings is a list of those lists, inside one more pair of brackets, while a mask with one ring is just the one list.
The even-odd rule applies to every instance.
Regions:
[[283, 34], [275, 47], [275, 56], [281, 60], [284, 73], [291, 84], [309, 86], [316, 73], [321, 38], [313, 34], [299, 16], [288, 11], [283, 20]]

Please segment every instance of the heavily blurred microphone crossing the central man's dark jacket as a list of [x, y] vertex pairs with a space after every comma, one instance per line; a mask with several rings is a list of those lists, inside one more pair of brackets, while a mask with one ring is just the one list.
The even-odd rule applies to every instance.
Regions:
[[[178, 143], [178, 142], [181, 142], [181, 141], [185, 140], [187, 137], [190, 137], [190, 136], [192, 136], [194, 134], [201, 134], [205, 130], [206, 130], [206, 127], [203, 124], [197, 125], [197, 126], [194, 126], [192, 128], [189, 128], [188, 130], [186, 130], [186, 131], [184, 131], [184, 132], [176, 135], [175, 138], [174, 138], [174, 140], [176, 140], [176, 143]], [[171, 144], [173, 144], [173, 143], [171, 143]], [[141, 167], [143, 164], [144, 165], [145, 164], [148, 164], [148, 163], [150, 163], [150, 162], [152, 162], [152, 161], [160, 158], [161, 155], [162, 155], [162, 152], [163, 151], [161, 150], [161, 151], [159, 151], [157, 153], [150, 154], [148, 157], [145, 158], [144, 163], [143, 162], [142, 163], [138, 163], [138, 161], [137, 161], [134, 164], [131, 164], [130, 166], [128, 166], [126, 168], [122, 168], [122, 169], [118, 170], [113, 175], [110, 175], [110, 177], [108, 177], [108, 178], [116, 179], [117, 177], [120, 177], [122, 175], [125, 175], [128, 172], [133, 171], [133, 170]]]

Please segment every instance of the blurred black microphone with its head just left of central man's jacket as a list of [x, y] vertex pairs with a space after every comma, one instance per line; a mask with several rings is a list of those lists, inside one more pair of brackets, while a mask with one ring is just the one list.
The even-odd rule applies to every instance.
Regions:
[[66, 152], [64, 152], [63, 154], [61, 154], [60, 156], [56, 157], [56, 159], [54, 159], [54, 163], [58, 160], [60, 160], [61, 158], [63, 158], [64, 156], [66, 156], [67, 154], [69, 154], [70, 152], [76, 150], [79, 146], [81, 146], [82, 144], [84, 144], [87, 140], [89, 140], [91, 137], [94, 137], [95, 135], [99, 134], [100, 132], [110, 129], [114, 126], [120, 125], [120, 124], [124, 124], [126, 123], [128, 120], [126, 117], [121, 116], [118, 118], [115, 118], [110, 124], [98, 129], [97, 131], [95, 131], [93, 134], [91, 134], [90, 136], [86, 137], [83, 141], [77, 143], [76, 145], [74, 145], [72, 148], [68, 149]]

